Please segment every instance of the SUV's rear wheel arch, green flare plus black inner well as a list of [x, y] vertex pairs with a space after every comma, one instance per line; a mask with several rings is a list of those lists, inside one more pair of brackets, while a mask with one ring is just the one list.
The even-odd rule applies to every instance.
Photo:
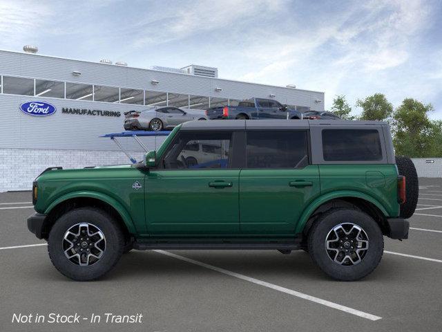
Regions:
[[372, 196], [360, 192], [335, 192], [325, 196], [320, 196], [312, 202], [305, 210], [296, 225], [296, 234], [307, 234], [311, 225], [320, 214], [331, 208], [357, 208], [361, 210], [378, 223], [383, 234], [387, 234], [387, 224], [385, 218], [388, 215], [383, 205]]

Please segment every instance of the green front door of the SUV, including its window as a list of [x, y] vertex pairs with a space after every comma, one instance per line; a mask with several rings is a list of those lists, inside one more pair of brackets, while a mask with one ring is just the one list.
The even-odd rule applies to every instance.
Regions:
[[[239, 174], [230, 158], [232, 131], [180, 131], [146, 175], [146, 223], [149, 234], [238, 234]], [[227, 154], [202, 158], [193, 147], [210, 143]], [[193, 150], [192, 156], [186, 151]], [[220, 151], [223, 151], [220, 149]], [[190, 160], [188, 158], [195, 158]]]

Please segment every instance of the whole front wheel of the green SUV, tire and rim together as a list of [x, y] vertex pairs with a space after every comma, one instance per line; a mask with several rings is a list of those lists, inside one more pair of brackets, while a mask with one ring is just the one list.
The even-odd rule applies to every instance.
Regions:
[[122, 256], [124, 236], [119, 224], [96, 208], [66, 212], [50, 230], [48, 252], [60, 273], [77, 281], [98, 279]]

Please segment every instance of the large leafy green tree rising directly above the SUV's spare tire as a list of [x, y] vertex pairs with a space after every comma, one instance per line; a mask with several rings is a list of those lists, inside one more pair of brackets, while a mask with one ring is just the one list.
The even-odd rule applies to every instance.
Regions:
[[427, 112], [433, 111], [432, 104], [406, 98], [394, 111], [394, 148], [398, 156], [423, 158], [431, 156], [434, 136], [441, 127], [432, 123]]

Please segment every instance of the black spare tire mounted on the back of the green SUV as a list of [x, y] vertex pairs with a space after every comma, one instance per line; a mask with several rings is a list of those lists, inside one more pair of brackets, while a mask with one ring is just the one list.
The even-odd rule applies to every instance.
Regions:
[[410, 218], [416, 210], [417, 199], [419, 198], [419, 180], [416, 167], [408, 157], [396, 156], [396, 165], [400, 175], [405, 176], [405, 203], [401, 205], [399, 216]]

